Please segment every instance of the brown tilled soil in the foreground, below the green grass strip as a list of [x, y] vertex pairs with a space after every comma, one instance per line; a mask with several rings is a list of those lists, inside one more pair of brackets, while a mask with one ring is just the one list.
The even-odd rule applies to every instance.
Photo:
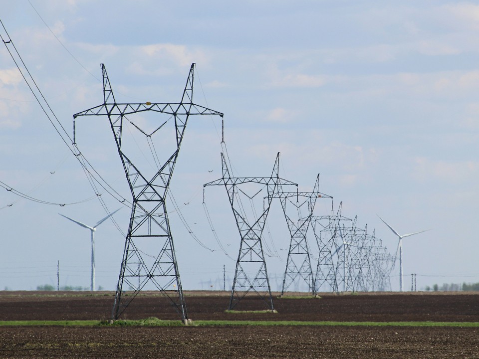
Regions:
[[479, 330], [0, 327], [0, 358], [479, 358]]

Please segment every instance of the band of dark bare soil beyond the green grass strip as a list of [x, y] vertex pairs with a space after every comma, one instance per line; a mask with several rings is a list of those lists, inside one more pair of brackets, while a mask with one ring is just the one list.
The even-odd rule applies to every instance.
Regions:
[[[76, 296], [68, 292], [57, 296], [0, 294], [0, 320], [110, 319], [113, 301], [111, 292], [94, 296], [85, 292]], [[229, 298], [224, 295], [188, 295], [186, 305], [192, 320], [479, 322], [478, 294], [329, 294], [321, 299], [274, 299], [277, 314], [225, 313]], [[235, 309], [268, 307], [260, 299], [245, 297]], [[121, 318], [148, 317], [181, 319], [168, 300], [152, 295], [135, 298]]]

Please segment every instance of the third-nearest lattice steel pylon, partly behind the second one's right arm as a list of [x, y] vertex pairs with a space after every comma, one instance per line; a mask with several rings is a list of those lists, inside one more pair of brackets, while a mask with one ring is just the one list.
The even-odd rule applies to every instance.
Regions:
[[[318, 198], [333, 198], [328, 194], [319, 192], [319, 175], [316, 177], [313, 190], [311, 192], [288, 192], [284, 191], [281, 184], [274, 197], [279, 198], [284, 212], [284, 218], [288, 224], [291, 240], [289, 242], [288, 258], [286, 260], [286, 268], [284, 270], [283, 285], [281, 295], [289, 288], [289, 286], [298, 278], [302, 278], [308, 285], [313, 295], [316, 294], [313, 269], [311, 267], [310, 250], [306, 240], [306, 233], [311, 223], [314, 206]], [[291, 199], [295, 199], [294, 201]], [[301, 202], [300, 202], [301, 201]], [[288, 214], [288, 202], [294, 207], [296, 217], [291, 219]], [[301, 207], [306, 207], [308, 214], [304, 217], [301, 213]]]

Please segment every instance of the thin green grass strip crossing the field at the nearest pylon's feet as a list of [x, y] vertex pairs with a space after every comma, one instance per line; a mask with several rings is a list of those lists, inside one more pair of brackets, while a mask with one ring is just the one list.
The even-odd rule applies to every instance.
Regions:
[[[110, 324], [109, 321], [0, 321], [0, 326], [81, 326], [81, 327], [181, 327], [183, 323], [179, 320], [160, 320], [147, 318], [142, 320], [118, 320]], [[193, 321], [194, 327], [209, 326], [318, 326], [318, 327], [470, 327], [479, 328], [479, 322], [300, 322], [300, 321]]]

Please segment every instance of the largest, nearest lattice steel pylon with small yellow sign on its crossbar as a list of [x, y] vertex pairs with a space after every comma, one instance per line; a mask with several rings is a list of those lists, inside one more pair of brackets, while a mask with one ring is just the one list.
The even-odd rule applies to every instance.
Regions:
[[[190, 115], [220, 115], [223, 117], [223, 114], [218, 111], [193, 103], [194, 67], [195, 64], [193, 63], [180, 102], [117, 103], [106, 68], [101, 64], [103, 71], [103, 104], [73, 115], [73, 118], [78, 116], [108, 116], [118, 154], [133, 197], [112, 319], [118, 319], [149, 282], [153, 283], [154, 287], [171, 300], [183, 321], [188, 319], [165, 200]], [[164, 164], [155, 161], [158, 171], [155, 170], [153, 177], [142, 175], [140, 169], [133, 164], [122, 147], [124, 122], [130, 122], [146, 137], [150, 145], [153, 135], [159, 132], [163, 125], [169, 121], [167, 120], [162, 124], [157, 123], [155, 125], [158, 126], [156, 130], [148, 134], [128, 118], [130, 115], [148, 111], [152, 111], [158, 116], [160, 114], [170, 115], [170, 119], [174, 119], [176, 130], [176, 146], [173, 153], [167, 157], [168, 160]], [[155, 155], [154, 157], [158, 159], [157, 154]], [[147, 254], [147, 252], [152, 251], [152, 247], [156, 250], [154, 255]], [[128, 285], [132, 291], [128, 296], [124, 295], [125, 285]]]

